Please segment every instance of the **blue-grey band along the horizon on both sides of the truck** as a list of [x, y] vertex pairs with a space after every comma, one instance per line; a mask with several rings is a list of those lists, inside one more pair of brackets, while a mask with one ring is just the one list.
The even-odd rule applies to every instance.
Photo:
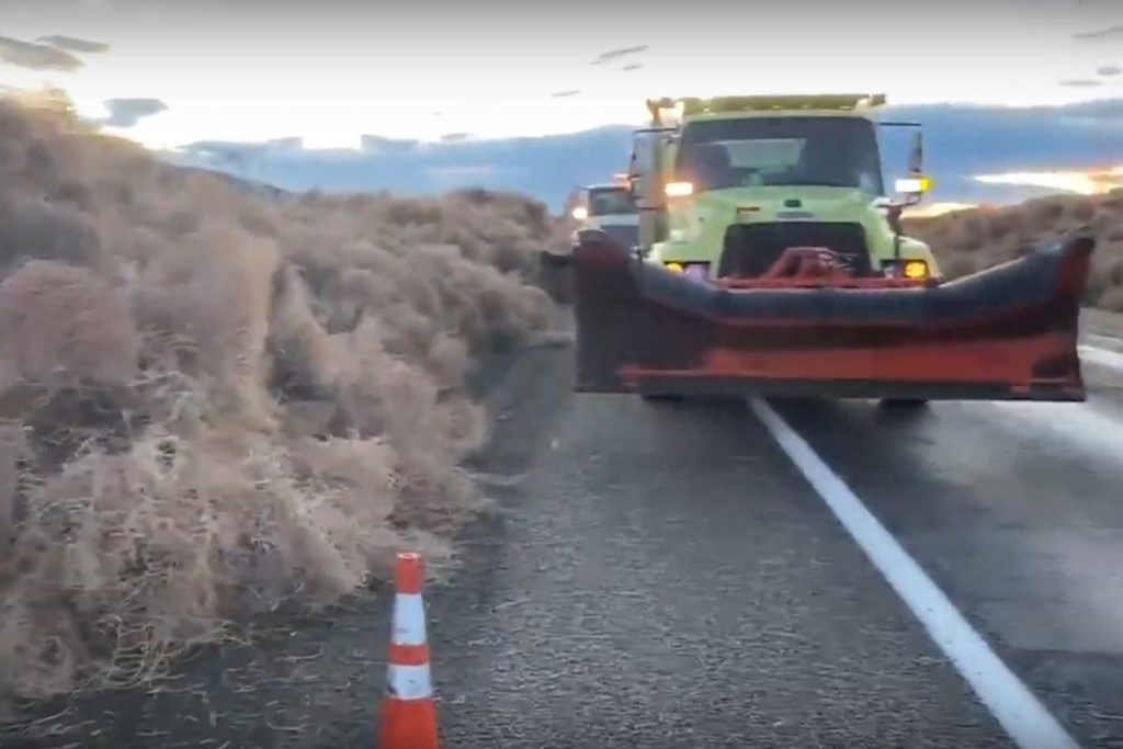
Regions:
[[[924, 127], [933, 201], [1010, 203], [1054, 192], [984, 184], [980, 174], [1123, 164], [1123, 99], [1068, 107], [896, 107], [884, 120]], [[559, 210], [574, 188], [627, 166], [631, 126], [532, 138], [418, 143], [367, 135], [363, 148], [319, 150], [283, 144], [200, 143], [165, 156], [276, 188], [429, 194], [468, 186], [533, 195]], [[907, 131], [886, 128], [886, 179], [902, 173]]]

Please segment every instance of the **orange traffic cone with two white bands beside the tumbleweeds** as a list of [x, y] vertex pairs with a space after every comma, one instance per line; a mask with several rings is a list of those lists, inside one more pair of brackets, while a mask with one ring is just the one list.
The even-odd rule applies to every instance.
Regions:
[[378, 749], [438, 749], [437, 705], [429, 676], [421, 557], [398, 555], [386, 694], [378, 715]]

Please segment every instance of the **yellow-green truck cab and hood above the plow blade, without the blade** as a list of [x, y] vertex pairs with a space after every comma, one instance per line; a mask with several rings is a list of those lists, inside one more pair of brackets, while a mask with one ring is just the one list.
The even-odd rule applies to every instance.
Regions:
[[648, 101], [629, 176], [639, 252], [696, 277], [751, 278], [788, 247], [831, 249], [858, 277], [939, 280], [901, 213], [929, 181], [913, 140], [904, 200], [886, 195], [873, 113], [880, 94]]

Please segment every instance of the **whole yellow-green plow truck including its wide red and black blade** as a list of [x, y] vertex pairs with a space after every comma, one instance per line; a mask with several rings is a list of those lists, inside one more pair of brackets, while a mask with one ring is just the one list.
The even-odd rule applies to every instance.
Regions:
[[[576, 390], [1083, 401], [1075, 232], [948, 281], [903, 235], [930, 189], [915, 122], [880, 94], [649, 100], [634, 133], [631, 246], [584, 228], [572, 254]], [[887, 197], [879, 131], [912, 128]]]

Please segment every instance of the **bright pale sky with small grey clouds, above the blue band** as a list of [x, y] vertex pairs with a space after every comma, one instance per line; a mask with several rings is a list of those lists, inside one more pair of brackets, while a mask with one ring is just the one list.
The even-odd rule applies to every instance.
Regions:
[[1062, 104], [1121, 67], [1123, 0], [0, 0], [0, 86], [154, 148], [547, 135], [656, 95]]

